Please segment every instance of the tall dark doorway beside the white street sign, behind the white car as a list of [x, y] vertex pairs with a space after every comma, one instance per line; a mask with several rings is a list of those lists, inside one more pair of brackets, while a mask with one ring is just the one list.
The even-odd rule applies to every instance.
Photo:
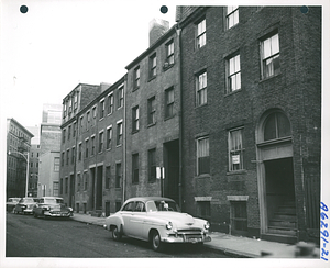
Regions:
[[179, 142], [164, 144], [165, 197], [179, 203]]

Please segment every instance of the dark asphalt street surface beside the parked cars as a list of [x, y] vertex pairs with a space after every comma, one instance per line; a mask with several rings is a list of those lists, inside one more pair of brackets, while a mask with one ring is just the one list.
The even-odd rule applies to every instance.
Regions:
[[146, 242], [127, 237], [114, 242], [100, 226], [12, 213], [7, 213], [6, 257], [228, 258], [194, 245], [169, 245], [156, 253]]

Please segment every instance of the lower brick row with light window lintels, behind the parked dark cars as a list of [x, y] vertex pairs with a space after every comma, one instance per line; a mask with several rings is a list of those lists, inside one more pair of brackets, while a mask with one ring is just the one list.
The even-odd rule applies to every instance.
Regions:
[[123, 77], [64, 99], [59, 196], [77, 213], [109, 215], [123, 201], [124, 90]]

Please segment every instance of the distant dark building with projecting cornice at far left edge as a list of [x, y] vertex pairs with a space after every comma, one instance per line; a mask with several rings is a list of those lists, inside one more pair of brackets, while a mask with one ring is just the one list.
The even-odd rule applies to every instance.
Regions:
[[7, 198], [25, 197], [32, 137], [16, 120], [7, 119]]

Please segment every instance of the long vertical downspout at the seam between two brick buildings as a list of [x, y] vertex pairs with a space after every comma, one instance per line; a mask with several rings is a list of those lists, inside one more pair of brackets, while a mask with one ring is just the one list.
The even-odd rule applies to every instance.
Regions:
[[178, 44], [178, 90], [179, 90], [179, 206], [183, 208], [183, 82], [182, 82], [182, 29], [176, 26]]

